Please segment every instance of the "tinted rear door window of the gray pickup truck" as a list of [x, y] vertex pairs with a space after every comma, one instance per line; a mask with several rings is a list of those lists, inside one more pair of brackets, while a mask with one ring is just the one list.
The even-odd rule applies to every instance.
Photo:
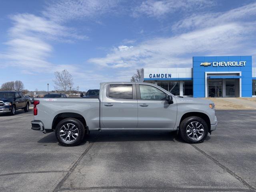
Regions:
[[113, 99], [132, 99], [132, 84], [110, 85], [109, 97]]

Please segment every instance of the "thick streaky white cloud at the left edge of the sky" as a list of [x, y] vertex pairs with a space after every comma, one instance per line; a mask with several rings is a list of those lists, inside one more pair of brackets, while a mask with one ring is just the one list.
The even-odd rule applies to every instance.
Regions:
[[50, 68], [52, 64], [47, 59], [53, 51], [51, 40], [82, 38], [60, 24], [33, 14], [16, 14], [10, 19], [13, 26], [8, 30], [9, 40], [4, 43], [7, 50], [0, 54], [0, 58], [1, 62], [11, 66], [30, 70]]

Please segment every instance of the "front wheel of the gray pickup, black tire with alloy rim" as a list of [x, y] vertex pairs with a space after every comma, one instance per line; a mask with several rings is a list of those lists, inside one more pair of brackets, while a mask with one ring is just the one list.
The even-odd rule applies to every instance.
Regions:
[[187, 143], [201, 143], [208, 135], [208, 125], [200, 117], [187, 117], [180, 123], [179, 135]]

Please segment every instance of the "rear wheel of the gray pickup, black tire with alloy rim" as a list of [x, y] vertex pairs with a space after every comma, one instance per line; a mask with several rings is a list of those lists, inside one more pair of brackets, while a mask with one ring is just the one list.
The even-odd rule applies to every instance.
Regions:
[[[73, 125], [74, 127], [72, 128]], [[76, 128], [77, 128], [77, 131], [76, 131]], [[65, 134], [65, 135], [61, 135], [61, 131], [63, 131], [62, 134]], [[78, 136], [76, 137], [75, 134], [78, 134]], [[82, 122], [80, 122], [75, 118], [66, 118], [61, 120], [55, 129], [55, 136], [58, 142], [63, 146], [76, 146], [80, 144], [80, 142], [82, 142], [84, 138], [84, 134], [85, 134], [84, 125], [82, 124]], [[76, 138], [74, 138], [73, 136]], [[65, 138], [66, 138], [66, 141], [65, 141]], [[72, 141], [72, 139], [74, 140]]]

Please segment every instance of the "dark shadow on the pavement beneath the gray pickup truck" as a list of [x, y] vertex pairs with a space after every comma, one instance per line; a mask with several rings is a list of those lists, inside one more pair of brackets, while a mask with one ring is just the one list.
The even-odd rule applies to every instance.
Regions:
[[[210, 136], [206, 137], [210, 140]], [[170, 141], [185, 143], [176, 132], [167, 131], [91, 131], [90, 135], [86, 135], [83, 145], [86, 142], [130, 142], [130, 141]], [[55, 133], [48, 133], [45, 137], [38, 140], [38, 143], [58, 143]]]

